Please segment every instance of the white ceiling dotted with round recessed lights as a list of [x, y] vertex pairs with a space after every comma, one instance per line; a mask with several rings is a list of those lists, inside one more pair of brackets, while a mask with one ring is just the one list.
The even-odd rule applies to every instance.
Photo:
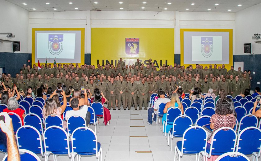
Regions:
[[[27, 11], [181, 11], [181, 12], [237, 12], [261, 3], [261, 0], [6, 0]], [[72, 4], [69, 4], [72, 2]], [[98, 2], [95, 4], [94, 2]], [[119, 2], [123, 2], [119, 4]], [[142, 2], [147, 2], [143, 4]], [[167, 4], [171, 2], [172, 4]], [[23, 5], [26, 3], [27, 5]], [[50, 3], [47, 5], [46, 3]], [[191, 5], [195, 3], [195, 5]], [[215, 4], [219, 4], [215, 6]], [[238, 5], [242, 6], [238, 6]], [[141, 7], [145, 7], [141, 9]], [[35, 8], [36, 10], [32, 10]], [[53, 10], [56, 8], [57, 10]], [[78, 8], [78, 9], [75, 9]], [[123, 8], [123, 9], [120, 9]], [[164, 10], [167, 8], [167, 10]], [[186, 10], [188, 8], [189, 10]], [[208, 9], [211, 9], [208, 11]], [[227, 11], [227, 10], [231, 11]]]

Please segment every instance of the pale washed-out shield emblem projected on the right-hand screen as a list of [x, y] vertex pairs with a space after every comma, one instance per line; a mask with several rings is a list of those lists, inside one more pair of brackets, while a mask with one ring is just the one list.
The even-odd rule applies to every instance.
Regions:
[[201, 37], [201, 53], [208, 58], [213, 53], [213, 37]]

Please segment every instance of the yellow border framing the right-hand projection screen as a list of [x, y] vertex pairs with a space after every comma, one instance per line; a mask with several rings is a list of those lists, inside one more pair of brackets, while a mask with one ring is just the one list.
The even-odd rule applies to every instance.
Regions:
[[[229, 34], [229, 63], [225, 63], [225, 67], [230, 69], [230, 67], [233, 65], [233, 29], [193, 29], [193, 28], [181, 28], [180, 29], [180, 46], [181, 46], [181, 66], [184, 65], [185, 68], [189, 66], [190, 64], [184, 63], [184, 32], [227, 32]], [[196, 63], [195, 63], [196, 64]], [[191, 64], [193, 67], [195, 67], [195, 64]], [[209, 67], [209, 64], [203, 64], [198, 63], [203, 66]], [[214, 67], [214, 64], [217, 64], [218, 66], [222, 66], [222, 63], [211, 63]]]

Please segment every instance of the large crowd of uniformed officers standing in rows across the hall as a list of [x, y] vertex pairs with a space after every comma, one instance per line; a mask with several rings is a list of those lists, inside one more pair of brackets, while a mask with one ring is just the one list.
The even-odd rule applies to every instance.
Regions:
[[[234, 70], [231, 66], [230, 70], [217, 65], [209, 65], [208, 67], [196, 64], [193, 69], [192, 65], [185, 68], [179, 64], [160, 66], [159, 70], [149, 59], [149, 63], [144, 66], [137, 59], [133, 65], [125, 65], [122, 58], [117, 63], [117, 67], [112, 64], [101, 66], [73, 64], [51, 64], [42, 65], [39, 70], [34, 64], [31, 68], [29, 65], [20, 69], [15, 78], [10, 74], [2, 73], [0, 81], [4, 81], [5, 85], [12, 88], [13, 84], [25, 91], [27, 87], [32, 87], [34, 93], [41, 85], [51, 87], [53, 90], [57, 88], [57, 83], [80, 89], [90, 89], [94, 94], [94, 89], [98, 88], [103, 91], [104, 96], [108, 99], [108, 107], [118, 109], [123, 104], [124, 110], [130, 109], [133, 105], [135, 110], [139, 106], [141, 110], [143, 105], [147, 110], [148, 100], [151, 94], [157, 93], [159, 89], [163, 89], [165, 93], [174, 91], [176, 88], [182, 88], [184, 93], [190, 93], [192, 87], [198, 87], [202, 93], [207, 93], [208, 89], [213, 89], [216, 95], [220, 89], [224, 89], [225, 93], [235, 97], [244, 94], [245, 89], [250, 89], [251, 71]], [[128, 108], [127, 108], [128, 107]]]

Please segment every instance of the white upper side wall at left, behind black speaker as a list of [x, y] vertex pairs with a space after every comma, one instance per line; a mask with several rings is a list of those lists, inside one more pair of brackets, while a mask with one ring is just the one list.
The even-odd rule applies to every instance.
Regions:
[[[28, 53], [28, 11], [5, 0], [0, 0], [0, 33], [13, 33], [10, 40], [20, 41], [20, 53]], [[0, 35], [5, 39], [7, 35]], [[0, 52], [13, 52], [10, 42], [0, 42]]]

